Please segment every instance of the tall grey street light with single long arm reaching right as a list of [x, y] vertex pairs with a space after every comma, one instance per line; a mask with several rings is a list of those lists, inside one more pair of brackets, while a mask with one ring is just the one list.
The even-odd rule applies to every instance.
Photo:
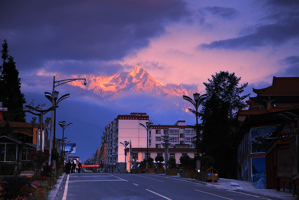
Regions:
[[[57, 100], [58, 98], [58, 93], [55, 91], [55, 87], [62, 85], [64, 83], [68, 83], [68, 82], [72, 82], [72, 81], [76, 81], [76, 80], [84, 80], [83, 84], [86, 85], [87, 81], [86, 79], [64, 79], [64, 80], [60, 80], [60, 81], [55, 81], [55, 76], [53, 76], [53, 90], [52, 90], [52, 107], [55, 106], [55, 98]], [[56, 84], [57, 83], [57, 84]], [[56, 84], [56, 85], [55, 85]], [[45, 94], [46, 95], [46, 94]], [[63, 95], [65, 96], [65, 95]], [[63, 97], [62, 96], [62, 97]], [[54, 98], [53, 98], [54, 97]], [[48, 97], [47, 97], [48, 98]], [[67, 97], [65, 97], [67, 98]], [[63, 99], [65, 99], [63, 98]], [[62, 100], [62, 99], [61, 99]], [[58, 102], [57, 102], [58, 103]], [[53, 119], [53, 115], [54, 115], [54, 111], [52, 111], [51, 113], [51, 118]], [[52, 154], [52, 133], [53, 133], [53, 120], [51, 121], [51, 131], [50, 131], [50, 148], [49, 148], [49, 165], [51, 164], [51, 154]], [[55, 138], [55, 137], [54, 137]]]

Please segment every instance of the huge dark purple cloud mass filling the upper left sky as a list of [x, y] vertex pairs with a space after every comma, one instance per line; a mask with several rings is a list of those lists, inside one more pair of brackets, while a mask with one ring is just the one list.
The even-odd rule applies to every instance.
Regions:
[[24, 67], [47, 60], [119, 59], [147, 46], [168, 22], [189, 15], [180, 0], [1, 1], [0, 6], [5, 19], [0, 36]]

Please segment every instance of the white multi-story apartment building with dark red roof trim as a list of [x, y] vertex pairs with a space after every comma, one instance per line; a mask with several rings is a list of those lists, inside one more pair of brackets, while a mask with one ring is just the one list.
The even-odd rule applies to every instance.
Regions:
[[[140, 125], [146, 125], [149, 115], [146, 113], [131, 113], [130, 115], [118, 115], [113, 121], [105, 126], [102, 136], [102, 147], [107, 144], [107, 163], [109, 172], [125, 170], [125, 147], [120, 142], [130, 142], [132, 148], [147, 148], [147, 131]], [[184, 145], [185, 148], [194, 148], [192, 141], [195, 131], [186, 126], [185, 121], [177, 121], [174, 125], [152, 125], [149, 129], [148, 148], [164, 148], [162, 139], [169, 141], [170, 148], [175, 145]], [[167, 138], [168, 137], [168, 138]], [[129, 145], [126, 147], [129, 148]], [[146, 151], [144, 151], [146, 152]], [[110, 155], [109, 155], [110, 154]], [[145, 153], [141, 159], [145, 158]], [[129, 165], [127, 165], [129, 166]], [[129, 170], [129, 169], [127, 169]]]

